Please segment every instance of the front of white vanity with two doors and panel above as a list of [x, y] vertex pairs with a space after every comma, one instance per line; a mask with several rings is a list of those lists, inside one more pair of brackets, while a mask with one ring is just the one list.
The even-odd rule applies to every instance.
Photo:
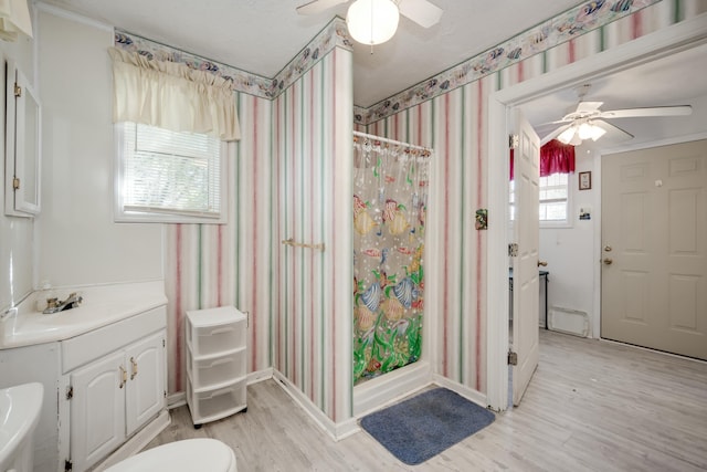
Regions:
[[72, 472], [105, 459], [165, 410], [165, 319], [162, 306], [62, 343]]

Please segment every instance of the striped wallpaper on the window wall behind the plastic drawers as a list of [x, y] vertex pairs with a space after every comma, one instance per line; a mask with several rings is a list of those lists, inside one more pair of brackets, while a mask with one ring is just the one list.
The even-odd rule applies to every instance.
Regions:
[[232, 305], [249, 312], [249, 371], [272, 366], [272, 102], [243, 93], [235, 99], [242, 139], [228, 145], [229, 223], [166, 225], [170, 392], [187, 385], [183, 316], [189, 310]]

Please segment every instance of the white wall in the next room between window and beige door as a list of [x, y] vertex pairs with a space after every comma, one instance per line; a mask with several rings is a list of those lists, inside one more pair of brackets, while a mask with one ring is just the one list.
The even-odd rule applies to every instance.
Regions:
[[[599, 316], [599, 307], [594, 306], [594, 249], [595, 228], [599, 224], [598, 178], [595, 168], [598, 160], [594, 151], [577, 147], [576, 171], [570, 176], [570, 227], [540, 228], [540, 260], [547, 261], [545, 268], [549, 274], [548, 307], [587, 312], [590, 329]], [[579, 172], [592, 172], [592, 189], [579, 190]], [[580, 209], [589, 209], [590, 220], [580, 220]], [[542, 316], [542, 314], [541, 314]], [[591, 337], [599, 333], [591, 329]]]

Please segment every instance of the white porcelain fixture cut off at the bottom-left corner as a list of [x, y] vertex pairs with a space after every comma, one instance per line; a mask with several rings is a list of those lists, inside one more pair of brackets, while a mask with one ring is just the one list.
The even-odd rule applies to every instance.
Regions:
[[0, 389], [0, 470], [31, 470], [32, 433], [43, 396], [44, 387], [39, 382]]

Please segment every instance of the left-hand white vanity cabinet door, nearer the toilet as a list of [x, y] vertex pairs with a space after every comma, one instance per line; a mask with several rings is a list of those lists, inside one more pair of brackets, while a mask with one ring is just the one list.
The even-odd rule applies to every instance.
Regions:
[[125, 352], [71, 374], [71, 458], [83, 471], [125, 440]]

